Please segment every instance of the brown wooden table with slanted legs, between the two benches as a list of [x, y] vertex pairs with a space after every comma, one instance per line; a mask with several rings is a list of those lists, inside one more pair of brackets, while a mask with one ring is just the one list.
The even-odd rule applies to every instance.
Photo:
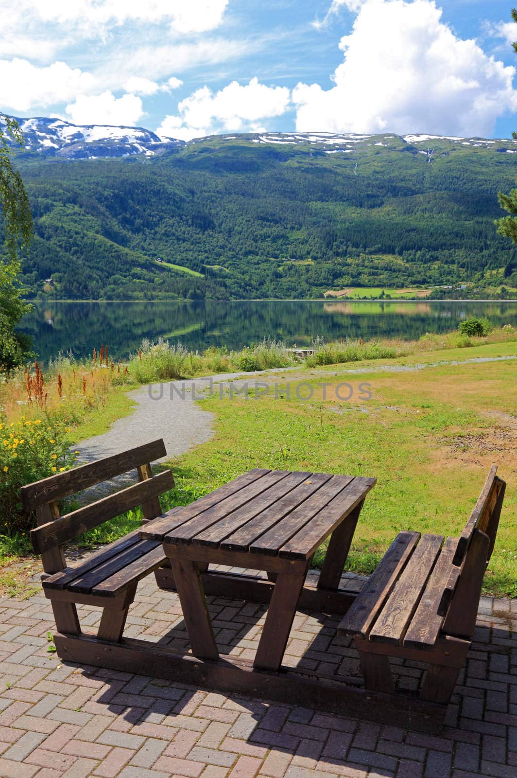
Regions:
[[[255, 468], [146, 525], [141, 538], [162, 541], [170, 560], [194, 656], [219, 658], [200, 573], [209, 565], [264, 570], [274, 587], [253, 667], [277, 671], [316, 548], [330, 535], [317, 588], [337, 593], [359, 513], [375, 483], [375, 478]], [[225, 576], [222, 593], [235, 596], [241, 577]], [[253, 599], [260, 583], [248, 584]], [[347, 598], [344, 610], [349, 605]]]

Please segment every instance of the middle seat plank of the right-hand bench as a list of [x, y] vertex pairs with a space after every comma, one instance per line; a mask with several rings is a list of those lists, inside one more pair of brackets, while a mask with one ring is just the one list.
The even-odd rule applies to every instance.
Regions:
[[399, 646], [442, 548], [443, 535], [424, 534], [370, 629], [370, 640]]

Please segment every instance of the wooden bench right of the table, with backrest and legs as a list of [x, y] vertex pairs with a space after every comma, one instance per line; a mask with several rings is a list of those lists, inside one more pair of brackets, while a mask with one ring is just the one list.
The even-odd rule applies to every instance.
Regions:
[[492, 466], [459, 538], [400, 532], [341, 621], [366, 689], [394, 692], [389, 657], [429, 665], [420, 699], [449, 703], [476, 625], [505, 482]]

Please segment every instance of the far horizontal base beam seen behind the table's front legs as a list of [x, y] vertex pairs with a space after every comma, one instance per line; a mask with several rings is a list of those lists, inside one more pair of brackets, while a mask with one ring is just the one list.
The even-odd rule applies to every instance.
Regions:
[[[171, 570], [160, 567], [155, 572], [160, 588], [175, 591], [174, 576]], [[249, 602], [271, 601], [274, 584], [264, 578], [243, 575], [242, 573], [219, 573], [211, 570], [201, 575], [205, 594], [216, 594], [231, 600]], [[299, 597], [299, 610], [344, 614], [353, 605], [356, 594], [352, 591], [323, 591], [305, 584]]]

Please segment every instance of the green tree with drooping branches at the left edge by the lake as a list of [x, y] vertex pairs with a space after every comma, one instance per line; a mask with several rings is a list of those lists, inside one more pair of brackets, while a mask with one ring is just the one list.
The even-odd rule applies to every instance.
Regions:
[[23, 363], [29, 353], [30, 339], [16, 331], [30, 306], [22, 300], [23, 289], [17, 276], [19, 254], [30, 244], [33, 219], [29, 198], [18, 170], [12, 166], [8, 139], [23, 146], [19, 124], [0, 114], [0, 202], [4, 216], [5, 258], [0, 257], [0, 370], [9, 371]]

